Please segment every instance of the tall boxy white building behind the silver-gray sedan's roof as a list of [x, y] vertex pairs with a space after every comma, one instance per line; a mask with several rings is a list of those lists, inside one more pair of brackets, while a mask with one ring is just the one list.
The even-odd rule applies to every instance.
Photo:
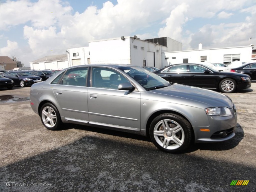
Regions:
[[128, 36], [91, 41], [89, 47], [71, 48], [67, 53], [70, 66], [112, 63], [162, 68], [164, 52], [173, 50], [182, 50], [182, 44], [169, 37], [141, 40]]

